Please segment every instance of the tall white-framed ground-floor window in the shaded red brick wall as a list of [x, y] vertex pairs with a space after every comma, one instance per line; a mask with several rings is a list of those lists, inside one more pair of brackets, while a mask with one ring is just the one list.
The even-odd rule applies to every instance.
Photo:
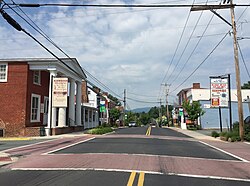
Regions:
[[37, 94], [31, 95], [31, 122], [40, 122], [40, 103], [41, 96]]

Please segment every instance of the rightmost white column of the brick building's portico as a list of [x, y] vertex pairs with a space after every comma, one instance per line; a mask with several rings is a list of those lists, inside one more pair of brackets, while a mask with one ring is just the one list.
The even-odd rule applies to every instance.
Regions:
[[76, 125], [81, 125], [81, 106], [82, 106], [82, 82], [77, 81], [76, 92]]

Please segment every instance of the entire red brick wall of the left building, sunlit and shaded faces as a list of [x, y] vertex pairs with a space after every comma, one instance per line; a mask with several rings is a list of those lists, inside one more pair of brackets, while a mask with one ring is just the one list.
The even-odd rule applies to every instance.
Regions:
[[43, 114], [40, 116], [40, 122], [30, 122], [32, 93], [40, 95], [41, 103], [44, 103], [44, 96], [49, 95], [49, 73], [42, 71], [41, 85], [35, 85], [33, 71], [29, 70], [27, 63], [8, 63], [7, 82], [0, 82], [0, 128], [4, 129], [4, 136], [39, 133], [37, 129], [26, 128], [43, 126]]

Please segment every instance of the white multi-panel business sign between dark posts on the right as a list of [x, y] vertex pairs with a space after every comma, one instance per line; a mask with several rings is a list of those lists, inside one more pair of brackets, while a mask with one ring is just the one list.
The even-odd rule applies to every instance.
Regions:
[[228, 107], [228, 79], [211, 78], [211, 107]]

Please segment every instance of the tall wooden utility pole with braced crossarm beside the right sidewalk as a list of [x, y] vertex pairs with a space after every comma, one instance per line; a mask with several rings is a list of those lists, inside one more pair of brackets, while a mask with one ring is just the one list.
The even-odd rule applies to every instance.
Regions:
[[[194, 5], [191, 8], [191, 11], [210, 10], [216, 16], [218, 16], [220, 19], [222, 19], [227, 24], [229, 24], [233, 29], [234, 63], [235, 63], [237, 99], [238, 99], [238, 116], [239, 116], [239, 134], [240, 134], [241, 141], [243, 141], [244, 140], [244, 121], [243, 121], [243, 105], [242, 105], [240, 68], [239, 68], [238, 45], [237, 45], [237, 30], [236, 30], [235, 14], [234, 14], [234, 6], [235, 5], [233, 4], [233, 0], [224, 0], [223, 1], [223, 4], [229, 4], [229, 3], [230, 3], [229, 7], [228, 7], [228, 5], [220, 5], [219, 7], [210, 7], [207, 5], [204, 5], [204, 6], [199, 6], [199, 5], [195, 6]], [[230, 8], [232, 24], [230, 24], [221, 15], [219, 15], [217, 12], [214, 11], [214, 9], [226, 9], [226, 8]]]

